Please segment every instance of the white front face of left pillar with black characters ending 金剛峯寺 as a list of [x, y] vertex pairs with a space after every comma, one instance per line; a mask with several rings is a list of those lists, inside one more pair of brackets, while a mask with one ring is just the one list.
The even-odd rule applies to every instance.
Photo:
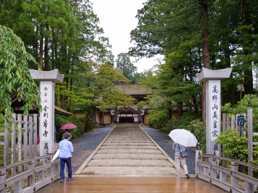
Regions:
[[41, 84], [41, 101], [42, 101], [42, 112], [41, 112], [41, 136], [44, 141], [49, 141], [50, 140], [50, 119], [52, 116], [52, 113], [50, 112], [51, 110], [51, 82], [50, 84]]

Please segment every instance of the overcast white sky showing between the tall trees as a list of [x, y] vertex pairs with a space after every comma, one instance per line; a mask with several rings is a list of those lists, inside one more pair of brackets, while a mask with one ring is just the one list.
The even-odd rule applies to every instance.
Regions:
[[[112, 45], [112, 52], [117, 58], [117, 55], [122, 52], [128, 52], [128, 48], [133, 46], [130, 44], [130, 32], [135, 29], [138, 20], [135, 18], [137, 10], [143, 7], [146, 0], [90, 0], [93, 5], [93, 11], [99, 17], [99, 26], [104, 30], [104, 36], [109, 38], [109, 43]], [[160, 56], [159, 56], [160, 57]], [[144, 69], [150, 69], [158, 64], [158, 57], [142, 58], [137, 63], [137, 72], [143, 72]], [[131, 62], [135, 58], [130, 58]]]

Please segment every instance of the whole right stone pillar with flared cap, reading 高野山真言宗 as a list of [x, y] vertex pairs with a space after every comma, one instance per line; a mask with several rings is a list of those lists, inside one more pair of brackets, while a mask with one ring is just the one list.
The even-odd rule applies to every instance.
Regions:
[[[206, 153], [213, 154], [214, 140], [220, 135], [221, 123], [221, 80], [229, 78], [232, 68], [210, 70], [203, 68], [196, 74], [199, 82], [206, 83]], [[221, 154], [220, 145], [218, 146]]]

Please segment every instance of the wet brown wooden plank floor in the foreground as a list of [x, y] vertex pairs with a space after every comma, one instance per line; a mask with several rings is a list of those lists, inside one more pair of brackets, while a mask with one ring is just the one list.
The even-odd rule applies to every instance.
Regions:
[[37, 193], [80, 192], [180, 192], [180, 193], [224, 193], [227, 192], [206, 181], [196, 178], [174, 177], [74, 177], [61, 183], [60, 180], [36, 191]]

